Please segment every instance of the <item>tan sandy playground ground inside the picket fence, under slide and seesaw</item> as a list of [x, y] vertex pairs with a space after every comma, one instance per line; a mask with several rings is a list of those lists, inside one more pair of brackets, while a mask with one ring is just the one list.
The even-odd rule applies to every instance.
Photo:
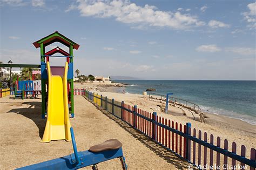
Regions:
[[[0, 98], [0, 169], [14, 169], [72, 153], [71, 142], [41, 143], [45, 121], [41, 100]], [[78, 151], [110, 138], [123, 143], [129, 169], [186, 169], [187, 163], [166, 151], [109, 113], [103, 113], [82, 96], [75, 96], [71, 119]], [[122, 169], [118, 159], [100, 163], [99, 169]], [[86, 169], [91, 169], [88, 167]]]

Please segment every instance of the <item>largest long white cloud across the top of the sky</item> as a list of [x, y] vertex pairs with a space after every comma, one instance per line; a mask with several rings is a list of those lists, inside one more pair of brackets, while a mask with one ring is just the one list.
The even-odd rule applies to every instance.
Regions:
[[156, 6], [138, 6], [128, 0], [121, 1], [82, 1], [72, 4], [68, 10], [77, 9], [84, 17], [113, 17], [118, 22], [130, 24], [133, 29], [145, 29], [147, 26], [171, 29], [189, 29], [205, 25], [197, 16], [180, 11], [161, 11]]

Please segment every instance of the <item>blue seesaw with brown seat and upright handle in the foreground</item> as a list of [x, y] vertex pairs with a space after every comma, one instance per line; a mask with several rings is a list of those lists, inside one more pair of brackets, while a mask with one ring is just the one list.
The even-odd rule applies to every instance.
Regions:
[[102, 144], [90, 147], [87, 151], [77, 152], [77, 145], [72, 127], [70, 128], [70, 132], [74, 153], [65, 157], [52, 159], [18, 169], [79, 169], [91, 165], [92, 169], [98, 169], [98, 163], [114, 158], [119, 158], [123, 169], [127, 169], [122, 150], [122, 143], [117, 139], [106, 140]]

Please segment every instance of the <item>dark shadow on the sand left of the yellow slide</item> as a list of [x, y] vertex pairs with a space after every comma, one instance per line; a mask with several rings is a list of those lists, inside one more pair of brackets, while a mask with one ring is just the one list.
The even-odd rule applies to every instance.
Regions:
[[42, 119], [41, 117], [41, 102], [26, 101], [26, 102], [23, 102], [21, 105], [29, 105], [29, 107], [13, 108], [12, 110], [8, 111], [8, 113], [12, 112], [12, 113], [21, 114], [24, 117], [31, 119], [38, 127], [39, 137], [42, 139], [44, 134], [46, 119]]

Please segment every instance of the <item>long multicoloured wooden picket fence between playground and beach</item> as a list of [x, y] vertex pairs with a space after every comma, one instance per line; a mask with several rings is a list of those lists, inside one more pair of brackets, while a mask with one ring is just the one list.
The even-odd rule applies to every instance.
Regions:
[[212, 134], [209, 136], [206, 132], [203, 133], [196, 128], [192, 129], [190, 123], [178, 124], [159, 117], [156, 112], [146, 112], [137, 106], [127, 105], [124, 101], [108, 99], [86, 90], [77, 90], [75, 95], [86, 96], [93, 103], [97, 103], [98, 106], [122, 119], [147, 137], [156, 140], [159, 145], [178, 157], [186, 159], [199, 169], [254, 170], [256, 167], [255, 148], [251, 148], [249, 154], [246, 155], [244, 145], [240, 149], [235, 142], [228, 146], [226, 139], [221, 142], [219, 137], [214, 138]]

